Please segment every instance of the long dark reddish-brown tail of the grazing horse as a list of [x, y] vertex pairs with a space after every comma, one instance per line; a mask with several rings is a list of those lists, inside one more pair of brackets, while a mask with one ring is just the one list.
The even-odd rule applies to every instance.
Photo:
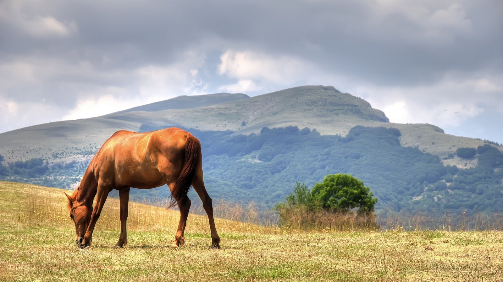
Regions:
[[192, 136], [187, 136], [187, 143], [185, 144], [185, 157], [182, 172], [177, 178], [175, 188], [171, 191], [172, 202], [170, 208], [177, 204], [177, 200], [181, 201], [187, 196], [194, 175], [196, 174], [197, 166], [201, 158], [201, 143], [199, 140]]

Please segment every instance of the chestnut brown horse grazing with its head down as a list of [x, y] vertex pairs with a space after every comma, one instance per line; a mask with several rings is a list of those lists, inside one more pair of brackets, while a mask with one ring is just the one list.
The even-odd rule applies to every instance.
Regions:
[[203, 182], [201, 143], [191, 133], [176, 127], [145, 133], [120, 130], [105, 141], [89, 164], [77, 189], [71, 196], [65, 193], [70, 218], [75, 223], [77, 245], [86, 248], [91, 244], [96, 221], [108, 193], [117, 189], [121, 234], [115, 247], [123, 247], [127, 244], [129, 189], [150, 189], [164, 184], [171, 190], [171, 206], [178, 203], [180, 209], [180, 223], [173, 246], [179, 247], [185, 243], [184, 231], [191, 205], [187, 192], [192, 185], [208, 214], [211, 247], [220, 248], [212, 200]]

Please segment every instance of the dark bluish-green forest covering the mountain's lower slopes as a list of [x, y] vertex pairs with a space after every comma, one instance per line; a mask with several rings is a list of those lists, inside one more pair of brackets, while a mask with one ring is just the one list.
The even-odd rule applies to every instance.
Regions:
[[[158, 129], [143, 124], [141, 131]], [[200, 131], [203, 169], [209, 194], [230, 202], [255, 202], [271, 208], [296, 185], [312, 187], [328, 174], [350, 174], [379, 199], [376, 214], [390, 212], [461, 214], [497, 213], [503, 207], [503, 154], [485, 144], [457, 155], [477, 159], [475, 168], [444, 166], [437, 156], [400, 146], [400, 131], [353, 127], [346, 136], [321, 135], [315, 129], [264, 127], [260, 134]], [[0, 157], [2, 158], [2, 157]], [[48, 164], [42, 159], [0, 166], [3, 180], [70, 187], [87, 163]], [[191, 198], [197, 197], [195, 193]], [[169, 197], [166, 188], [133, 189], [137, 200]]]

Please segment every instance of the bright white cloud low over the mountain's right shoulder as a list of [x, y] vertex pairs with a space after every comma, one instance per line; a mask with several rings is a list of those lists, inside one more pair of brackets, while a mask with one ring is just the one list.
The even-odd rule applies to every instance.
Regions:
[[378, 87], [362, 83], [349, 92], [383, 110], [391, 122], [456, 127], [480, 115], [486, 107], [503, 105], [502, 84], [490, 77], [465, 79], [448, 74], [428, 86]]

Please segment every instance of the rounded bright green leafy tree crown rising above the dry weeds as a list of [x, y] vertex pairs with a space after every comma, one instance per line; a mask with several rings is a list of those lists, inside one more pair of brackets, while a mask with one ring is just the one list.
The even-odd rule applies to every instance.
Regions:
[[358, 209], [358, 213], [368, 214], [374, 210], [377, 198], [363, 182], [347, 174], [329, 174], [322, 183], [316, 183], [311, 197], [325, 210], [346, 211]]

